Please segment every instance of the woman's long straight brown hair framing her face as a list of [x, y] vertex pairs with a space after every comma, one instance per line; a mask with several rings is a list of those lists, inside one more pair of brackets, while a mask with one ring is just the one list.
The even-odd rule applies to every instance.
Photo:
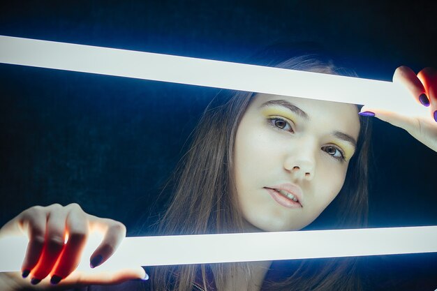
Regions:
[[[269, 48], [255, 59], [269, 58], [260, 65], [344, 75], [332, 61], [316, 54], [291, 59], [274, 58]], [[282, 54], [283, 55], [283, 54]], [[350, 74], [349, 74], [350, 75]], [[242, 215], [237, 206], [234, 178], [234, 142], [239, 122], [255, 94], [243, 91], [221, 91], [200, 118], [193, 132], [191, 147], [179, 162], [172, 177], [172, 199], [158, 223], [158, 234], [212, 234], [243, 232]], [[331, 227], [362, 227], [367, 219], [367, 158], [369, 121], [360, 117], [357, 151], [348, 166], [341, 192], [328, 207], [336, 209]], [[320, 245], [323, 247], [323, 244]], [[214, 250], [212, 250], [214, 251]], [[360, 290], [357, 264], [353, 259], [301, 260], [295, 271], [267, 274], [263, 290]], [[251, 280], [247, 263], [209, 265], [214, 271], [218, 290], [225, 278], [244, 270]], [[152, 290], [192, 290], [195, 276], [201, 270], [205, 290], [206, 265], [155, 267], [151, 272]], [[270, 272], [269, 272], [270, 273]], [[276, 277], [275, 277], [276, 276]], [[286, 276], [284, 278], [283, 276]]]

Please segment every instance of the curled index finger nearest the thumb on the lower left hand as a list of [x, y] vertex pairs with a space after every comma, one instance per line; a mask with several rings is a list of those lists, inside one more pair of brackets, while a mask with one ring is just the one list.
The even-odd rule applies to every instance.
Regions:
[[91, 268], [97, 267], [108, 260], [114, 251], [117, 250], [124, 237], [126, 237], [126, 227], [119, 221], [113, 221], [108, 218], [97, 218], [94, 224], [96, 224], [97, 227], [107, 227], [107, 231], [105, 232], [102, 243], [91, 255], [89, 261]]

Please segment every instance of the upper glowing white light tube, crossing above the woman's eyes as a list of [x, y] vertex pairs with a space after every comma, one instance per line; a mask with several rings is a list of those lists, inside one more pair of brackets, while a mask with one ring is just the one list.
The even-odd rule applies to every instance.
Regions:
[[[0, 63], [295, 96], [427, 114], [392, 82], [0, 36]], [[412, 108], [417, 112], [412, 113]]]

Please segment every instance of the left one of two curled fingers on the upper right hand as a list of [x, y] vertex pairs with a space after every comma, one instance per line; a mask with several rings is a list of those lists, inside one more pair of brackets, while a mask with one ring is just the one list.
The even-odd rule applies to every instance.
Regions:
[[394, 71], [393, 82], [401, 84], [405, 87], [410, 94], [414, 96], [418, 103], [424, 106], [429, 106], [429, 96], [427, 96], [427, 91], [425, 90], [424, 84], [416, 76], [413, 70], [407, 66], [400, 66]]

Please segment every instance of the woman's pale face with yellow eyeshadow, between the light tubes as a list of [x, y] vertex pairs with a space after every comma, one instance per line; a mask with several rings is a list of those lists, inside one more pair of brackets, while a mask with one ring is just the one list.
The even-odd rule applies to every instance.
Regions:
[[248, 230], [300, 230], [339, 193], [360, 132], [355, 105], [257, 94], [235, 140]]

